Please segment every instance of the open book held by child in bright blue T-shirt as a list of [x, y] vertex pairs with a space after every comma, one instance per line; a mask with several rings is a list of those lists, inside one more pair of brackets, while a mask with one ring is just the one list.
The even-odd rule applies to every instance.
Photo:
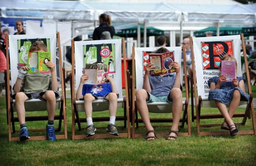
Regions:
[[86, 64], [86, 67], [83, 68], [83, 73], [86, 73], [89, 76], [86, 84], [104, 84], [106, 80], [106, 75], [108, 74], [106, 71], [107, 65], [104, 63]]

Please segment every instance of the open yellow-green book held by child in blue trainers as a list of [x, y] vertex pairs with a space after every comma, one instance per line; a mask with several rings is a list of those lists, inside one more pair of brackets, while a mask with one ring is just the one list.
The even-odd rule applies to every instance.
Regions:
[[28, 73], [50, 73], [51, 69], [46, 66], [46, 62], [51, 61], [51, 52], [38, 51], [28, 54], [28, 63], [30, 69]]

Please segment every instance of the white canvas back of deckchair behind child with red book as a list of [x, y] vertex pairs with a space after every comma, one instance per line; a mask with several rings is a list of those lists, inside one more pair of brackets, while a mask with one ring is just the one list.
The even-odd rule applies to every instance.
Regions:
[[[159, 47], [135, 47], [135, 71], [136, 71], [136, 89], [142, 89], [145, 68], [149, 60], [147, 55], [156, 51]], [[182, 47], [166, 47], [169, 51], [174, 52], [174, 61], [180, 64], [180, 84], [182, 84], [183, 73], [181, 63], [181, 49]]]

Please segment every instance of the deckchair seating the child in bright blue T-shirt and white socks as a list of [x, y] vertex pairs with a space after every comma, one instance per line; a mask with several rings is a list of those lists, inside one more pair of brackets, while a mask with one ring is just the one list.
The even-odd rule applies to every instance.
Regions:
[[[122, 52], [121, 52], [122, 51]], [[119, 93], [118, 108], [124, 109], [123, 116], [117, 116], [116, 121], [124, 121], [124, 128], [127, 128], [126, 133], [119, 133], [118, 137], [128, 137], [130, 138], [130, 117], [129, 117], [129, 103], [128, 98], [122, 95], [122, 77], [125, 76], [126, 84], [126, 94], [128, 94], [127, 89], [127, 76], [126, 72], [124, 75], [121, 73], [121, 60], [122, 53], [124, 57], [124, 68], [126, 68], [126, 54], [124, 39], [111, 39], [111, 40], [95, 40], [95, 41], [72, 41], [72, 73], [70, 74], [70, 87], [71, 87], [71, 99], [72, 99], [72, 140], [74, 139], [95, 139], [95, 138], [107, 138], [107, 137], [117, 137], [114, 135], [98, 134], [86, 137], [85, 131], [83, 135], [75, 134], [75, 124], [78, 124], [79, 131], [82, 130], [81, 123], [86, 122], [86, 118], [80, 118], [79, 112], [85, 113], [84, 101], [76, 100], [75, 90], [77, 90], [80, 77], [82, 76], [83, 63], [93, 63], [96, 61], [102, 61], [108, 65], [108, 61], [112, 56], [114, 61], [114, 72], [110, 72], [108, 75], [113, 76], [114, 83]], [[87, 56], [86, 56], [87, 55]], [[75, 72], [76, 68], [76, 72]], [[109, 103], [103, 100], [95, 100], [92, 102], [92, 111], [104, 111], [108, 110]], [[96, 121], [109, 121], [109, 117], [94, 117], [92, 116], [94, 122]], [[127, 121], [127, 124], [126, 124]], [[127, 127], [126, 127], [127, 125]], [[106, 128], [99, 127], [96, 128]], [[119, 127], [120, 128], [120, 127]]]

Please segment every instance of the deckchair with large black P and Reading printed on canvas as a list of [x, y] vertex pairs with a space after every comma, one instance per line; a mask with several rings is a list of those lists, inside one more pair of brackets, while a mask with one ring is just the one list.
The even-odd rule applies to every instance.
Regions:
[[[195, 109], [196, 115], [194, 115], [194, 107], [192, 106], [192, 121], [196, 119], [197, 134], [198, 135], [226, 135], [229, 131], [200, 131], [200, 127], [212, 127], [220, 126], [221, 124], [205, 124], [207, 121], [201, 119], [215, 119], [222, 118], [222, 114], [218, 111], [216, 114], [206, 114], [201, 111], [201, 107], [216, 107], [214, 100], [208, 100], [208, 94], [210, 87], [208, 87], [208, 79], [213, 76], [218, 76], [220, 71], [218, 65], [220, 59], [225, 55], [234, 55], [237, 62], [236, 76], [242, 76], [241, 59], [240, 59], [240, 42], [242, 39], [242, 47], [245, 54], [244, 36], [231, 35], [221, 37], [190, 37], [190, 49], [192, 57], [192, 70], [191, 77], [191, 95], [195, 96]], [[252, 115], [252, 130], [239, 130], [240, 134], [256, 134], [255, 115], [252, 103], [252, 88], [250, 84], [250, 74], [248, 70], [248, 61], [245, 60], [246, 66], [246, 84], [248, 84], [248, 94], [250, 95], [249, 102], [240, 102], [240, 105], [246, 104], [244, 113], [235, 113], [235, 117], [242, 117], [242, 123], [235, 123], [237, 125], [245, 125], [246, 119]], [[194, 93], [193, 93], [194, 91]], [[194, 103], [193, 103], [194, 105]], [[217, 111], [217, 109], [216, 109]], [[201, 114], [202, 113], [202, 114]], [[215, 120], [216, 122], [216, 120]], [[200, 124], [201, 123], [201, 124]], [[239, 128], [239, 127], [238, 127]], [[221, 129], [220, 129], [221, 130]]]

